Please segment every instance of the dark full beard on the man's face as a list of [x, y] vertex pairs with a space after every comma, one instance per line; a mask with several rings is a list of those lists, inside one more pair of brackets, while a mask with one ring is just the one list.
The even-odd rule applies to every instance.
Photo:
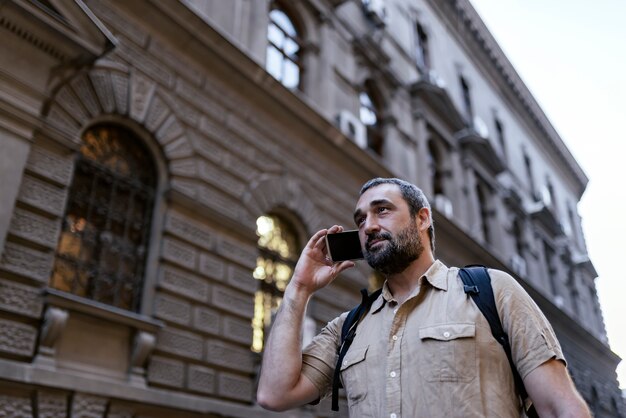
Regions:
[[[379, 244], [380, 248], [371, 249], [371, 242], [383, 239], [387, 244]], [[393, 237], [388, 232], [368, 235], [365, 243], [365, 259], [374, 270], [389, 276], [401, 273], [424, 251], [419, 230], [414, 222], [402, 229]]]

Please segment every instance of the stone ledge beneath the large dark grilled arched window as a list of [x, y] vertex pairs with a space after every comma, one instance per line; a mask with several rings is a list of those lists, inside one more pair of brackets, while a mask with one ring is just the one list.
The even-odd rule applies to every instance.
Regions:
[[140, 331], [156, 333], [165, 324], [162, 321], [135, 312], [116, 308], [56, 289], [45, 290], [45, 303], [49, 306], [80, 312], [118, 324], [128, 325]]

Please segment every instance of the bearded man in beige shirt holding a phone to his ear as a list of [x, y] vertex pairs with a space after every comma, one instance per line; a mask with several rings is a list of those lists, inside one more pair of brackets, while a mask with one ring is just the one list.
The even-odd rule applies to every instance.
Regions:
[[[458, 269], [434, 258], [432, 217], [422, 191], [399, 179], [370, 180], [354, 220], [367, 262], [386, 281], [341, 365], [350, 416], [522, 416], [502, 346], [463, 292]], [[265, 408], [286, 410], [329, 392], [346, 314], [304, 353], [300, 341], [311, 296], [354, 266], [327, 257], [325, 235], [341, 230], [335, 225], [313, 235], [285, 290], [263, 357], [257, 399]], [[539, 415], [590, 417], [539, 308], [509, 275], [490, 275], [513, 359]]]

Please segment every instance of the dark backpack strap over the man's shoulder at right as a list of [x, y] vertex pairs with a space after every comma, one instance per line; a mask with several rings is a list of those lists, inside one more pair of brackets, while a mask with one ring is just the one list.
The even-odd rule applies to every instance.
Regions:
[[[463, 281], [463, 290], [472, 297], [480, 312], [482, 312], [487, 322], [489, 322], [489, 327], [491, 328], [491, 333], [494, 338], [502, 345], [502, 348], [504, 348], [504, 352], [509, 359], [509, 366], [513, 372], [515, 387], [521, 395], [524, 405], [526, 405], [528, 393], [524, 387], [524, 381], [513, 362], [509, 336], [504, 332], [502, 322], [498, 316], [496, 300], [493, 295], [493, 288], [491, 287], [491, 278], [489, 277], [487, 268], [478, 265], [465, 266], [459, 270], [459, 276], [461, 277], [461, 281]], [[526, 409], [526, 407], [524, 409], [529, 418], [538, 418], [534, 405], [531, 404], [528, 409]]]

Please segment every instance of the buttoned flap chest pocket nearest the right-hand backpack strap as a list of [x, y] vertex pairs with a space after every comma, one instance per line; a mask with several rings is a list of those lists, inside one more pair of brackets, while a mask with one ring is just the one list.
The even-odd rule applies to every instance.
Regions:
[[429, 382], [468, 382], [476, 377], [476, 325], [450, 323], [419, 329], [419, 369]]

